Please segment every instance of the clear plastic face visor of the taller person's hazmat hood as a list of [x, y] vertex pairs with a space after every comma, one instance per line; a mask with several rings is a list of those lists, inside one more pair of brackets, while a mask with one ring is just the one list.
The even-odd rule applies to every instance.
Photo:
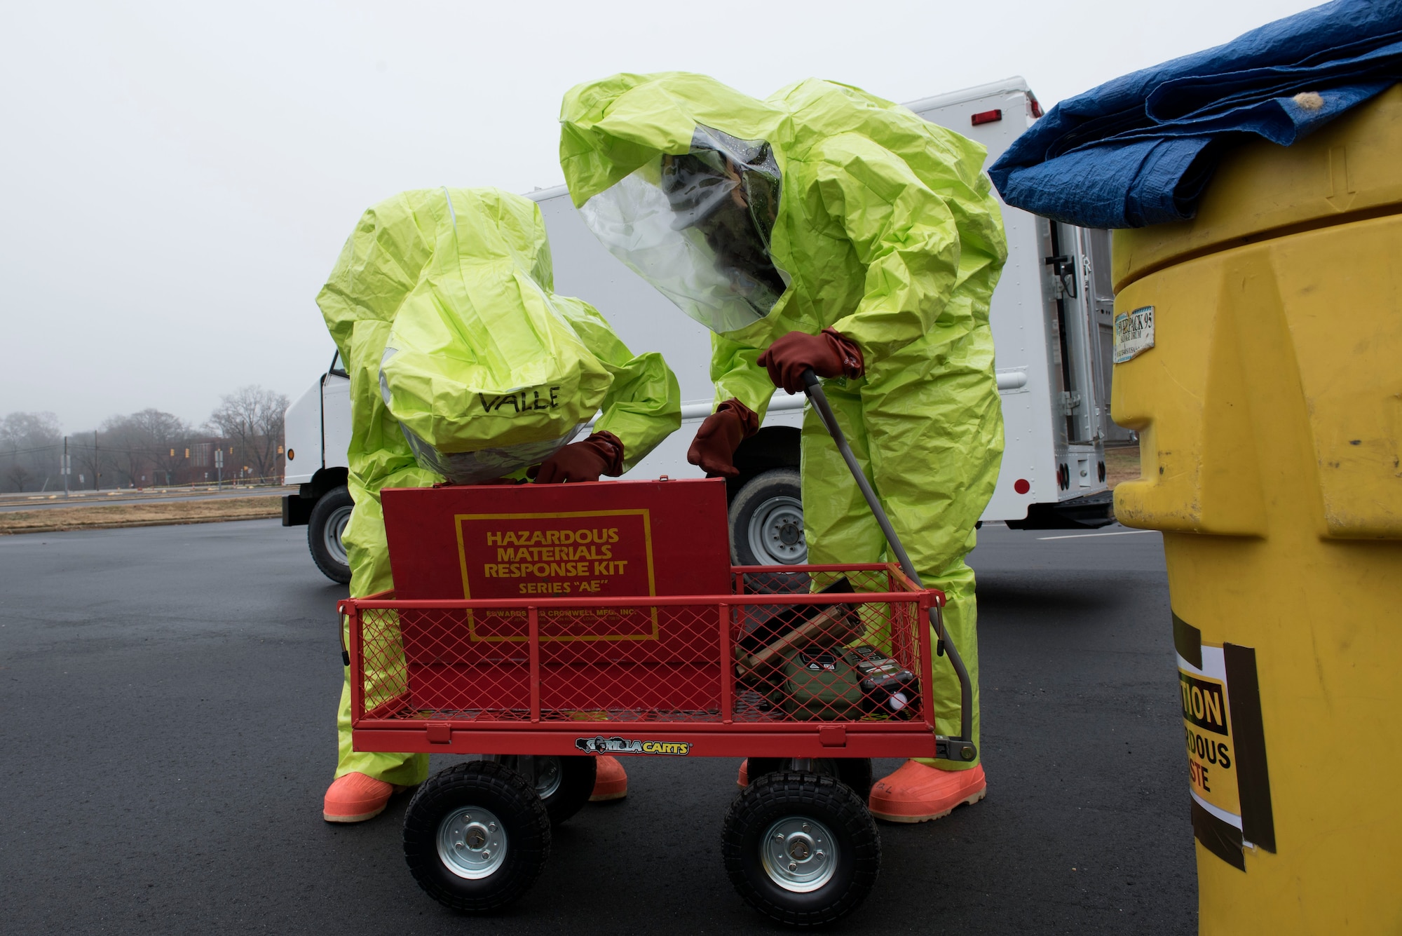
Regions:
[[690, 153], [659, 156], [579, 213], [677, 308], [732, 332], [768, 315], [788, 287], [770, 256], [781, 192], [768, 143], [698, 126]]

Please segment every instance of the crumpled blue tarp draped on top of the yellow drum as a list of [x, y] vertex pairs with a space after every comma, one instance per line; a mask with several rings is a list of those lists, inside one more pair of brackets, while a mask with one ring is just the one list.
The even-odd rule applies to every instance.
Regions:
[[1402, 80], [1402, 0], [1336, 0], [1061, 101], [988, 168], [1082, 227], [1192, 217], [1223, 150], [1290, 146]]

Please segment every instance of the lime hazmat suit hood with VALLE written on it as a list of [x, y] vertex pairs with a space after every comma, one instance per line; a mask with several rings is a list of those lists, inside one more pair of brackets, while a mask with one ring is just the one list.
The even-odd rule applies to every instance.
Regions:
[[376, 242], [356, 263], [362, 283], [383, 286], [381, 296], [360, 290], [356, 304], [383, 304], [391, 317], [379, 391], [416, 462], [474, 483], [568, 443], [611, 377], [559, 310], [571, 300], [551, 291], [538, 206], [495, 189], [428, 189], [372, 213], [391, 227], [404, 216], [416, 234], [407, 252]]

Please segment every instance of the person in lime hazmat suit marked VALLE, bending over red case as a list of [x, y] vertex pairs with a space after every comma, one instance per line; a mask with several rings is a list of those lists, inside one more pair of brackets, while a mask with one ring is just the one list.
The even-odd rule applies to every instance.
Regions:
[[[317, 304], [350, 376], [355, 509], [343, 541], [353, 597], [393, 587], [383, 488], [597, 481], [681, 425], [662, 356], [634, 355], [594, 308], [554, 293], [540, 207], [519, 195], [425, 189], [376, 205]], [[547, 387], [551, 404], [520, 413], [477, 405], [522, 387]], [[599, 411], [593, 433], [571, 441]], [[349, 678], [322, 806], [329, 823], [372, 818], [428, 776], [426, 754], [352, 750]], [[597, 759], [593, 799], [618, 799], [627, 783], [617, 759]]]

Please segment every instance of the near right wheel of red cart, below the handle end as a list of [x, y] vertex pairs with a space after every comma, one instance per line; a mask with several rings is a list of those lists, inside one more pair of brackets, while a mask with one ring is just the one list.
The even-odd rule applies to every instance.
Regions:
[[822, 926], [866, 900], [880, 872], [880, 837], [845, 783], [785, 771], [756, 778], [735, 797], [721, 855], [750, 907], [791, 926]]

